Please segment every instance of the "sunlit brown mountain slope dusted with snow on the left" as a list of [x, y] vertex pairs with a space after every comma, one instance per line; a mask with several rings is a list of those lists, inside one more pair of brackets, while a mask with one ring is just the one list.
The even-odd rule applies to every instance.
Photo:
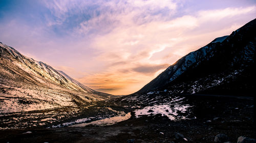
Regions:
[[62, 71], [0, 43], [0, 112], [81, 106], [110, 99]]

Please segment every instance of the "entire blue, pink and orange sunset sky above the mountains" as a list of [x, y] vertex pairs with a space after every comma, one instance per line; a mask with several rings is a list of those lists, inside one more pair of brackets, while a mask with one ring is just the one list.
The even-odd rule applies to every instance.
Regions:
[[254, 0], [0, 0], [0, 41], [113, 95], [256, 16]]

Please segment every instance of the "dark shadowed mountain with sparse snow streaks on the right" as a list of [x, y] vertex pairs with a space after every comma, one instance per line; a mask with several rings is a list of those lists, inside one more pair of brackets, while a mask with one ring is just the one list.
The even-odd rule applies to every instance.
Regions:
[[216, 38], [169, 66], [135, 94], [251, 95], [254, 93], [256, 19]]

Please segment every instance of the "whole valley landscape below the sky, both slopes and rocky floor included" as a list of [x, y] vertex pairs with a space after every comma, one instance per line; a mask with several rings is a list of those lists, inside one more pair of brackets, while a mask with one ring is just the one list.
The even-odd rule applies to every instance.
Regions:
[[125, 96], [95, 91], [1, 43], [0, 142], [256, 138], [255, 34], [256, 19], [188, 53]]

